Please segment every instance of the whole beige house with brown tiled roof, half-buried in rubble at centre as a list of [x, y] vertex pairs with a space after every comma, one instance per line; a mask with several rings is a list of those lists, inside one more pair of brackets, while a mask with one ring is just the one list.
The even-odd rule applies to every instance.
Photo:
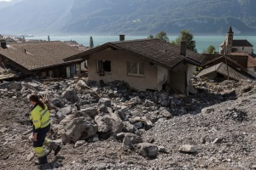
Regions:
[[141, 91], [161, 90], [164, 85], [189, 94], [190, 78], [195, 65], [203, 60], [201, 54], [160, 39], [108, 42], [81, 54], [64, 59], [87, 59], [88, 79], [111, 82], [121, 80]]

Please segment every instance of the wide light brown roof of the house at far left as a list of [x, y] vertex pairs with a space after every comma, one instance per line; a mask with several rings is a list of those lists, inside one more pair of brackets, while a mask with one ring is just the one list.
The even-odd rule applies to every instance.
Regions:
[[7, 48], [0, 47], [0, 55], [11, 59], [29, 71], [65, 65], [67, 63], [63, 59], [79, 53], [81, 51], [63, 42], [9, 43]]

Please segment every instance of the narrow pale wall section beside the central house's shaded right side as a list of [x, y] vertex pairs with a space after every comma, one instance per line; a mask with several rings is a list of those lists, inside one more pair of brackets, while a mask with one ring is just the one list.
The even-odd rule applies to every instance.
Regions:
[[169, 71], [168, 69], [161, 67], [161, 66], [157, 66], [157, 90], [161, 90], [163, 87], [163, 84], [168, 82], [169, 80]]

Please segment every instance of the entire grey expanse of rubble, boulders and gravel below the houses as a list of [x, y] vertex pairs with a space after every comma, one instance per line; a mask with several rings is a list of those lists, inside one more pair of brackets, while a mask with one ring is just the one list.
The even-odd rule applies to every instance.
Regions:
[[28, 97], [39, 94], [51, 114], [49, 138], [63, 145], [42, 168], [252, 168], [255, 82], [192, 83], [197, 94], [189, 96], [139, 92], [120, 81], [0, 83], [0, 164], [35, 168], [26, 132]]

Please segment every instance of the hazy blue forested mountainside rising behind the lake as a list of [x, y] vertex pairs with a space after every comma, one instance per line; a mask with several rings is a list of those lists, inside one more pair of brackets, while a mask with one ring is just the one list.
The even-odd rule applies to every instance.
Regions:
[[[0, 3], [1, 5], [1, 3]], [[255, 34], [255, 0], [23, 0], [0, 11], [0, 34]]]

